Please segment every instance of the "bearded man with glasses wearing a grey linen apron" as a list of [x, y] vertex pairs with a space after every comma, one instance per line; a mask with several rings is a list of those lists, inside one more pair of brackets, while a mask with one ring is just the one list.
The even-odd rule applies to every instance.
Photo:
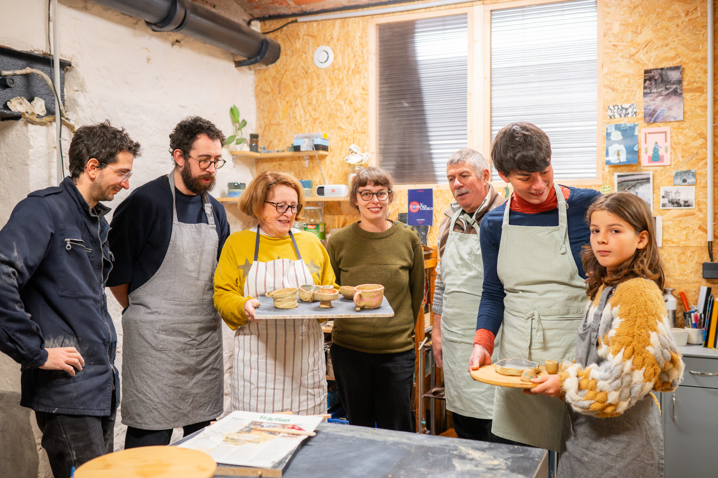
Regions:
[[213, 277], [230, 234], [223, 206], [209, 195], [224, 166], [225, 136], [192, 116], [169, 135], [174, 168], [140, 186], [112, 219], [116, 267], [108, 285], [123, 328], [125, 448], [167, 445], [223, 412], [221, 319]]

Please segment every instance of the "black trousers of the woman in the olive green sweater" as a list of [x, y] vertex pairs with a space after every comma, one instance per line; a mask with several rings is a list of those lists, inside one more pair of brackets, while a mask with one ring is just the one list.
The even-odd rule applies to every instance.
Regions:
[[414, 350], [366, 353], [334, 343], [330, 354], [350, 424], [413, 431]]

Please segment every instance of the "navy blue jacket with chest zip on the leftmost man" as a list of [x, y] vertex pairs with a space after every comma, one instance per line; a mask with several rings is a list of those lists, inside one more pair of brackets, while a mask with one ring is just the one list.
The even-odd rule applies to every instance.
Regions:
[[[108, 416], [113, 393], [119, 403], [117, 334], [105, 295], [108, 211], [90, 210], [68, 177], [29, 193], [0, 230], [0, 351], [21, 365], [22, 406]], [[70, 377], [40, 369], [45, 348], [55, 347], [77, 348], [83, 370]]]

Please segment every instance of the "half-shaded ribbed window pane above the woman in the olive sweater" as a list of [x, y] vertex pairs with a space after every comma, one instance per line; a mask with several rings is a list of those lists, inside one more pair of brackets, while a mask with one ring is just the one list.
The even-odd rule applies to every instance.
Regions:
[[378, 25], [378, 164], [397, 183], [446, 183], [467, 145], [467, 15]]

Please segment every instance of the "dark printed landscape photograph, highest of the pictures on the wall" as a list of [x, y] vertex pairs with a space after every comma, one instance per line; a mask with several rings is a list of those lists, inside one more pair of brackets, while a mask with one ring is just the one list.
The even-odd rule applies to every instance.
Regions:
[[643, 121], [683, 120], [683, 67], [643, 70]]

